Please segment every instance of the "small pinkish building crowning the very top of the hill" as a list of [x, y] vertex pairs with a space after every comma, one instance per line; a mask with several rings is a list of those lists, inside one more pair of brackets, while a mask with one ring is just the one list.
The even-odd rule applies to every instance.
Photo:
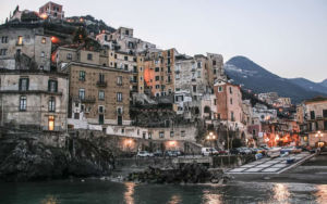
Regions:
[[39, 16], [43, 18], [47, 18], [49, 16], [51, 18], [63, 20], [64, 11], [62, 11], [62, 5], [49, 1], [39, 8]]

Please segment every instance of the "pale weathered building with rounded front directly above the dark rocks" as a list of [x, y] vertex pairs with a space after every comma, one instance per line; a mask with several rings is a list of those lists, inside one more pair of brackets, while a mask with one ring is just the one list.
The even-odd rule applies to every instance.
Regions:
[[68, 75], [45, 71], [0, 69], [1, 126], [64, 131]]

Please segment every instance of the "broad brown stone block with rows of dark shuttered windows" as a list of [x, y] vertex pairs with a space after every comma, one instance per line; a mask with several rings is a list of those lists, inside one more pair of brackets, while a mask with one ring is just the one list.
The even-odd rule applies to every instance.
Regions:
[[[81, 59], [84, 55], [92, 59], [93, 52], [78, 53]], [[83, 123], [104, 128], [109, 124], [130, 125], [130, 73], [81, 61], [71, 62], [62, 69], [70, 78], [71, 128]]]

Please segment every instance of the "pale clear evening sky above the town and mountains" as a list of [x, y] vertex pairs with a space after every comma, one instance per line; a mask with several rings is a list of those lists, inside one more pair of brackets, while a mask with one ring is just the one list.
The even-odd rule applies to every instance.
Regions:
[[[1, 0], [0, 23], [16, 5], [38, 11], [47, 1]], [[284, 78], [327, 78], [327, 0], [55, 0], [65, 16], [93, 15], [134, 37], [187, 55], [246, 56]]]

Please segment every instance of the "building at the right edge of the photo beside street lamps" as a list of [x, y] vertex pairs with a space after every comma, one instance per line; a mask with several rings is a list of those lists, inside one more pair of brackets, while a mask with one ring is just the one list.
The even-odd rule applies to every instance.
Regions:
[[[310, 146], [326, 146], [327, 145], [327, 98], [316, 97], [304, 101], [306, 106], [307, 125], [302, 126], [302, 142]], [[318, 135], [319, 132], [319, 135]], [[318, 137], [316, 137], [318, 135]], [[323, 135], [323, 137], [322, 137]], [[320, 141], [320, 142], [319, 142]]]

